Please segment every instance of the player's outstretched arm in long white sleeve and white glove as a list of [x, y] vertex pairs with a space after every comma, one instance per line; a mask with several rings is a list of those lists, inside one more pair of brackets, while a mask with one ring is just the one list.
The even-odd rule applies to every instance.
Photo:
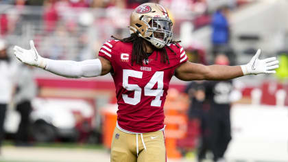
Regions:
[[95, 77], [109, 73], [112, 68], [110, 61], [105, 58], [84, 60], [81, 62], [71, 60], [50, 60], [43, 58], [38, 54], [33, 40], [30, 40], [30, 47], [31, 49], [27, 50], [15, 46], [14, 55], [27, 65], [40, 67], [59, 76], [67, 78]]

